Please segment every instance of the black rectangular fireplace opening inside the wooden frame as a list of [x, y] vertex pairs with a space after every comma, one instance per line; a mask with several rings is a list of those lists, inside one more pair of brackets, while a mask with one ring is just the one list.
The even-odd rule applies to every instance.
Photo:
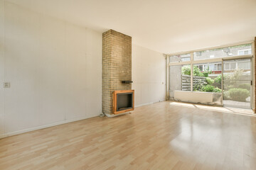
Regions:
[[133, 93], [117, 94], [117, 111], [133, 108], [132, 95]]

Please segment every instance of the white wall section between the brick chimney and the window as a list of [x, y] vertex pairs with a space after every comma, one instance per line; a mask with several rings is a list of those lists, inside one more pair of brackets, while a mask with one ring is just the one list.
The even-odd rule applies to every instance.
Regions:
[[142, 106], [166, 97], [166, 60], [162, 53], [132, 45], [132, 89], [135, 106]]

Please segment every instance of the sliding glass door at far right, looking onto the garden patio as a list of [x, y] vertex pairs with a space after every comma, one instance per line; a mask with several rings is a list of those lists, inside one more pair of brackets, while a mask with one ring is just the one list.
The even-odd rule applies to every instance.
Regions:
[[251, 108], [251, 59], [223, 60], [223, 105]]

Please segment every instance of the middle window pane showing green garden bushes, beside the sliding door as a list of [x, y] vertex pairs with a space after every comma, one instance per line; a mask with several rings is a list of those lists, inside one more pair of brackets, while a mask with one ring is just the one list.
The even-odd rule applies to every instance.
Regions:
[[193, 65], [193, 91], [221, 93], [221, 63], [203, 65], [203, 71]]

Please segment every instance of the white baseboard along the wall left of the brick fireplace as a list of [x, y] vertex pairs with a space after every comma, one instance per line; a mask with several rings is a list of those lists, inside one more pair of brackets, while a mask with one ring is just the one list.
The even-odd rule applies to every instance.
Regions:
[[80, 118], [74, 118], [74, 119], [64, 120], [64, 121], [60, 121], [60, 122], [56, 122], [56, 123], [50, 123], [48, 125], [36, 126], [36, 127], [33, 127], [33, 128], [27, 128], [27, 129], [18, 130], [18, 131], [15, 131], [15, 132], [8, 132], [8, 133], [1, 134], [0, 139], [4, 138], [4, 137], [19, 135], [19, 134], [25, 133], [25, 132], [31, 132], [33, 130], [40, 130], [40, 129], [44, 129], [44, 128], [50, 128], [50, 127], [53, 127], [55, 125], [63, 125], [65, 123], [71, 123], [71, 122], [75, 122], [75, 121], [78, 121], [78, 120], [84, 120], [84, 119], [93, 118], [93, 117], [97, 117], [97, 116], [82, 116]]

